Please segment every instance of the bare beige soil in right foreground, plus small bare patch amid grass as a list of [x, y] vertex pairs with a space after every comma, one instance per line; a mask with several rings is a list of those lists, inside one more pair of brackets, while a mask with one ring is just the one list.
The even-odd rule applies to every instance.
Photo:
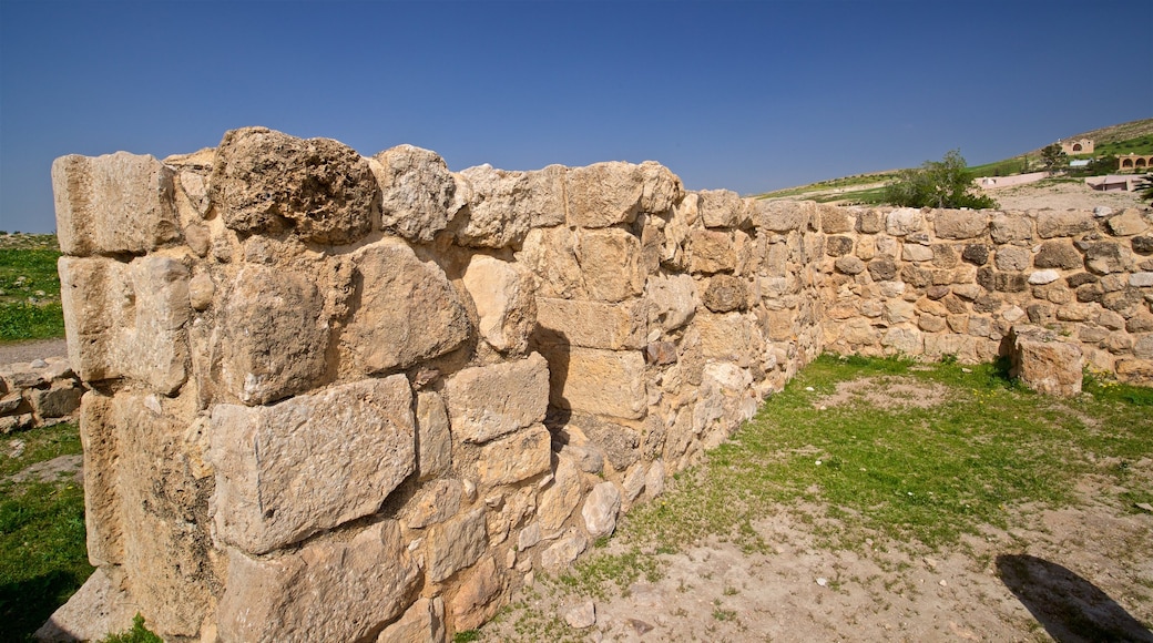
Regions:
[[[898, 379], [844, 383], [819, 403], [891, 396], [924, 408], [942, 399]], [[536, 581], [482, 640], [538, 640], [543, 626], [526, 623], [563, 621], [591, 600], [595, 623], [575, 633], [587, 641], [1153, 642], [1153, 514], [1110, 504], [1107, 484], [1083, 479], [1078, 506], [1026, 507], [1009, 530], [947, 551], [868, 535], [830, 550], [819, 536], [830, 522], [824, 507], [782, 507], [754, 525], [770, 553], [695, 544], [658, 557], [661, 580], [606, 600]], [[601, 551], [624, 550], [610, 540]]]

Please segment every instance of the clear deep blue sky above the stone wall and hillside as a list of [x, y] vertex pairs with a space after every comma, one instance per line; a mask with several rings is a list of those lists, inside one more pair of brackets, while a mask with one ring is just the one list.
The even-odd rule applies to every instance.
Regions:
[[0, 0], [0, 229], [68, 153], [262, 124], [452, 169], [654, 159], [753, 194], [1153, 116], [1145, 0]]

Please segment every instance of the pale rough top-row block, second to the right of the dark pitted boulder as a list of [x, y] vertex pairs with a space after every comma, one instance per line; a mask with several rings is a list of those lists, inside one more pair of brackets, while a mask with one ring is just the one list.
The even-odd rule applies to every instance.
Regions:
[[565, 175], [559, 165], [506, 172], [485, 164], [460, 172], [469, 198], [458, 242], [473, 248], [517, 247], [532, 228], [564, 224]]

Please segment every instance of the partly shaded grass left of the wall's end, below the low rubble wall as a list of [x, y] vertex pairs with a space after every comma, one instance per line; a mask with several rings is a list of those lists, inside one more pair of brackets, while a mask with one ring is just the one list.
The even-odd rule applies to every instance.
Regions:
[[[9, 457], [13, 440], [24, 442]], [[88, 580], [84, 490], [71, 476], [10, 479], [28, 466], [80, 454], [75, 424], [33, 429], [0, 441], [0, 640], [27, 641]]]

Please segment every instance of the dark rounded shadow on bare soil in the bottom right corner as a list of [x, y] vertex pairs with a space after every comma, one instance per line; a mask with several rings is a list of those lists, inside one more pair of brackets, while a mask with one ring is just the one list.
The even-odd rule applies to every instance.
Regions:
[[998, 555], [997, 576], [1060, 643], [1153, 643], [1153, 633], [1109, 595], [1055, 562], [1026, 554]]

